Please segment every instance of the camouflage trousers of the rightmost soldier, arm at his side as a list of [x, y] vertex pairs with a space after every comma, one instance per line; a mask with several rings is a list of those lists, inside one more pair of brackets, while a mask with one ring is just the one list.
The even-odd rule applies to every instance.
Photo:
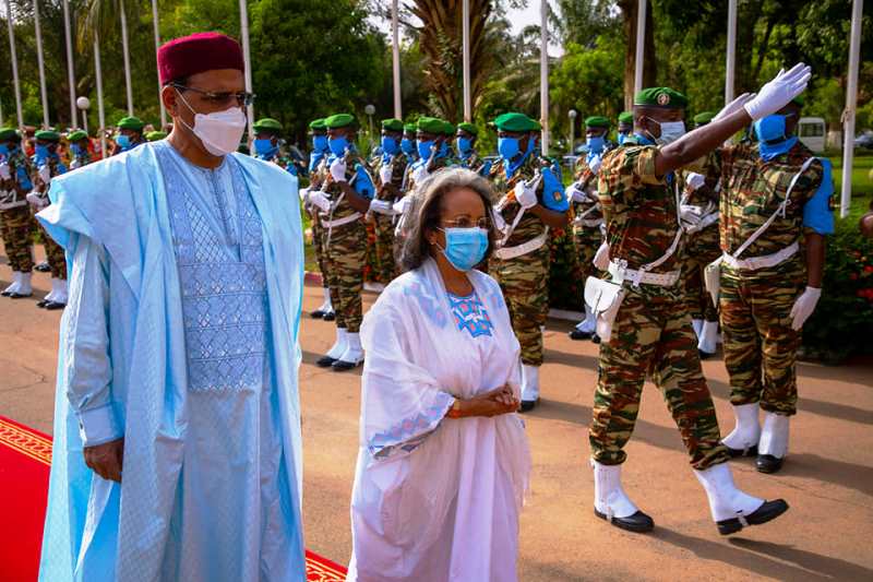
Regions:
[[721, 268], [721, 332], [730, 403], [761, 402], [765, 411], [797, 413], [797, 353], [801, 333], [791, 308], [806, 284], [802, 259], [741, 273]]

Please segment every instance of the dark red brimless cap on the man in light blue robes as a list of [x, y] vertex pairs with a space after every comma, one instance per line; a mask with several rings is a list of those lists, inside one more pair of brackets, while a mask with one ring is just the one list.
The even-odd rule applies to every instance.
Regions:
[[239, 43], [220, 33], [196, 33], [157, 49], [160, 84], [216, 69], [246, 69]]

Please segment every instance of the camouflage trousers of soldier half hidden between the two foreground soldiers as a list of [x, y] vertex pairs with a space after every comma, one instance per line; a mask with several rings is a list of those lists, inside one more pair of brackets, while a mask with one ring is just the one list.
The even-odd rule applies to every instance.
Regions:
[[721, 257], [718, 245], [718, 223], [685, 237], [684, 260], [680, 285], [691, 319], [718, 321], [718, 309], [706, 290], [704, 270], [706, 265]]

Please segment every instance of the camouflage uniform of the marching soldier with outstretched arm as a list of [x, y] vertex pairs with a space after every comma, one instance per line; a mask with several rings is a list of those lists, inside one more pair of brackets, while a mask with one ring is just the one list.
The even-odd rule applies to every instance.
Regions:
[[[656, 152], [629, 139], [603, 156], [598, 174], [610, 259], [626, 261], [627, 269], [660, 259], [680, 228], [675, 177], [656, 176]], [[677, 271], [680, 262], [675, 252], [654, 272]], [[648, 373], [663, 393], [692, 466], [702, 471], [727, 461], [680, 287], [623, 285], [626, 295], [612, 335], [600, 344], [591, 455], [605, 465], [624, 462]]]

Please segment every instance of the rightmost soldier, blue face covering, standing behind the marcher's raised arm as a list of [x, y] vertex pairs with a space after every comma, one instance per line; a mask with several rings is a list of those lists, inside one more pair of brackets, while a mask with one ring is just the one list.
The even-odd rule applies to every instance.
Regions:
[[815, 158], [793, 135], [801, 106], [797, 98], [758, 120], [757, 144], [725, 147], [713, 156], [714, 179], [723, 185], [721, 329], [737, 417], [723, 442], [733, 454], [756, 454], [762, 473], [779, 471], [788, 451], [801, 329], [822, 293], [824, 237], [834, 233], [830, 163]]

